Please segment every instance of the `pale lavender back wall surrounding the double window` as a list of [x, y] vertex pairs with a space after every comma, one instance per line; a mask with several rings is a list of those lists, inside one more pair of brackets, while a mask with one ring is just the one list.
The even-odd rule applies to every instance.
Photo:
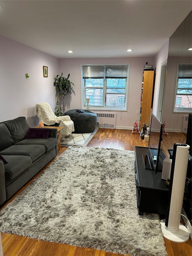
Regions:
[[[130, 64], [128, 87], [128, 111], [112, 111], [117, 113], [117, 127], [128, 129], [139, 121], [140, 95], [142, 86], [143, 67], [145, 63], [153, 65], [153, 57], [136, 58], [98, 58], [98, 59], [59, 59], [59, 74], [64, 76], [70, 73], [70, 80], [74, 83], [74, 93], [67, 96], [65, 112], [69, 109], [81, 108], [81, 64]], [[92, 110], [91, 110], [92, 111]], [[106, 112], [106, 111], [105, 111]]]

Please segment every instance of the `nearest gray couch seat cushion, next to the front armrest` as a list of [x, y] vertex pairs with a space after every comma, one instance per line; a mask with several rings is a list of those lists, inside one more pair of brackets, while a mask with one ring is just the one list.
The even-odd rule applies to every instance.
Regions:
[[4, 166], [5, 179], [8, 180], [14, 179], [32, 164], [31, 157], [26, 155], [3, 155], [3, 157], [8, 162]]

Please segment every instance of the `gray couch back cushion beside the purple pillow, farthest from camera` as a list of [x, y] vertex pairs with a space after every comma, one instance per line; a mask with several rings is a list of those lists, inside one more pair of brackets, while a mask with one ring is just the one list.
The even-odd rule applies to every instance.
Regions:
[[24, 140], [29, 130], [29, 125], [24, 116], [19, 116], [4, 123], [9, 130], [14, 143]]

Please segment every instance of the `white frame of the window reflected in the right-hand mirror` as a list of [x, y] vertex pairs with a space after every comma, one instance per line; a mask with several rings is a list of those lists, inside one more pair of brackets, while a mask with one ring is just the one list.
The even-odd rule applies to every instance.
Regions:
[[185, 93], [177, 93], [178, 90], [178, 82], [179, 82], [179, 65], [187, 65], [187, 64], [191, 64], [191, 63], [182, 63], [179, 62], [177, 64], [177, 73], [176, 73], [176, 85], [175, 85], [175, 94], [174, 94], [174, 102], [173, 102], [173, 113], [191, 113], [192, 112], [192, 107], [189, 108], [181, 108], [181, 107], [175, 107], [176, 106], [176, 97], [177, 95], [192, 95], [192, 94], [185, 94]]

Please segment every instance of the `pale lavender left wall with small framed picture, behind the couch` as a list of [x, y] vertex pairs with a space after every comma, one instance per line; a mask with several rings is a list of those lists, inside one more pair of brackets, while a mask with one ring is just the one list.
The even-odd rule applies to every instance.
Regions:
[[[25, 116], [29, 126], [37, 125], [36, 103], [46, 101], [55, 108], [58, 59], [1, 35], [0, 56], [0, 121]], [[43, 66], [48, 66], [47, 78]]]

